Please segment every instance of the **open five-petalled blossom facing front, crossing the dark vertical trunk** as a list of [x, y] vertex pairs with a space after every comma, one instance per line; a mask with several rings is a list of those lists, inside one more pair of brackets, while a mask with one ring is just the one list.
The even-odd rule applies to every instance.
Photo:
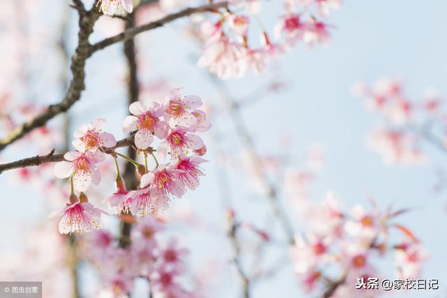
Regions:
[[164, 139], [168, 131], [168, 125], [159, 118], [163, 115], [163, 107], [153, 101], [149, 107], [134, 102], [129, 106], [129, 111], [133, 116], [124, 119], [123, 131], [126, 134], [137, 131], [135, 134], [135, 146], [140, 149], [147, 149], [154, 141], [154, 134], [159, 139]]

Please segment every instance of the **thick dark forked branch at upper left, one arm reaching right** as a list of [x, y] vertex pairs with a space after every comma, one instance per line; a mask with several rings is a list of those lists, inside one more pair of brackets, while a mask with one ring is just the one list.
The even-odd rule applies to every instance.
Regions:
[[43, 127], [49, 120], [59, 115], [60, 113], [68, 111], [68, 109], [71, 108], [71, 106], [73, 106], [73, 104], [75, 104], [75, 102], [80, 99], [81, 92], [85, 89], [85, 62], [94, 52], [102, 50], [103, 48], [106, 48], [109, 45], [118, 43], [120, 41], [128, 41], [137, 34], [140, 34], [144, 31], [156, 29], [163, 26], [163, 24], [177, 20], [180, 17], [186, 17], [195, 13], [217, 11], [218, 8], [228, 6], [228, 1], [223, 1], [219, 3], [198, 6], [196, 8], [186, 8], [184, 10], [180, 10], [178, 13], [173, 13], [167, 15], [166, 17], [162, 17], [158, 21], [149, 22], [139, 27], [129, 28], [126, 31], [122, 32], [122, 34], [118, 34], [111, 38], [105, 38], [103, 41], [95, 43], [94, 45], [90, 45], [89, 36], [93, 32], [94, 23], [101, 16], [101, 13], [98, 13], [98, 11], [96, 11], [95, 9], [85, 11], [82, 6], [79, 6], [78, 2], [82, 3], [79, 0], [75, 0], [75, 5], [80, 15], [78, 47], [76, 48], [75, 54], [71, 59], [71, 73], [73, 75], [73, 78], [64, 99], [59, 104], [48, 106], [47, 110], [45, 110], [43, 113], [37, 115], [29, 122], [25, 122], [19, 127], [16, 127], [13, 132], [6, 136], [6, 138], [1, 139], [0, 151], [6, 148], [11, 143], [14, 143], [15, 141], [21, 139], [24, 135], [28, 134], [33, 129]]

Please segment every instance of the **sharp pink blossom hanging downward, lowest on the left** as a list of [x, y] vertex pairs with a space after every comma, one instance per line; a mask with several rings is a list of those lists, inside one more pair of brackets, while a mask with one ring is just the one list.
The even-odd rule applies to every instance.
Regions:
[[82, 233], [90, 232], [93, 228], [99, 229], [101, 214], [107, 213], [87, 201], [75, 201], [67, 203], [66, 207], [61, 210], [53, 211], [50, 218], [60, 218], [59, 232], [61, 234]]

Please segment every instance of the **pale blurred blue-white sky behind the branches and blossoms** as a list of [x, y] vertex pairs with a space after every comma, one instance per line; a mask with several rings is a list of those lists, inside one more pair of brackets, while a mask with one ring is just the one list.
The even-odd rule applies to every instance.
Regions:
[[[281, 7], [272, 2], [266, 1], [260, 14], [265, 24], [274, 24], [281, 13]], [[3, 0], [3, 4], [1, 89], [13, 90], [14, 98], [32, 104], [60, 101], [69, 78], [66, 57], [71, 57], [77, 40], [75, 10], [68, 8], [68, 1]], [[89, 5], [91, 1], [86, 1], [86, 6]], [[147, 10], [145, 13], [150, 14], [150, 8]], [[402, 78], [406, 94], [416, 101], [423, 98], [427, 87], [437, 88], [444, 98], [446, 13], [444, 1], [346, 1], [340, 10], [331, 13], [330, 24], [335, 28], [327, 48], [300, 44], [259, 75], [249, 73], [241, 79], [219, 82], [196, 66], [200, 45], [185, 30], [185, 24], [194, 22], [195, 17], [135, 38], [142, 86], [140, 100], [159, 101], [166, 97], [168, 90], [184, 87], [183, 94], [197, 94], [203, 99], [212, 121], [212, 129], [203, 134], [207, 144], [205, 158], [210, 160], [203, 164], [206, 176], [197, 190], [173, 201], [165, 215], [173, 222], [170, 232], [178, 235], [190, 251], [187, 263], [191, 270], [209, 279], [203, 278], [203, 281], [211, 289], [210, 297], [240, 295], [235, 271], [228, 262], [231, 256], [226, 236], [228, 208], [240, 220], [284, 238], [272, 217], [263, 185], [252, 171], [247, 150], [237, 136], [237, 122], [225, 104], [228, 99], [237, 102], [242, 123], [265, 162], [268, 179], [275, 185], [296, 232], [304, 232], [306, 222], [286, 195], [284, 176], [291, 169], [306, 167], [310, 152], [312, 161], [323, 160], [307, 187], [310, 199], [321, 201], [328, 192], [334, 192], [346, 210], [358, 203], [367, 206], [369, 199], [374, 199], [382, 209], [388, 206], [411, 209], [399, 221], [411, 228], [430, 253], [422, 277], [438, 278], [440, 290], [389, 295], [446, 297], [447, 199], [440, 173], [445, 170], [447, 154], [423, 144], [428, 157], [423, 164], [383, 162], [366, 141], [368, 132], [379, 119], [351, 92], [359, 80], [371, 84], [388, 76]], [[143, 13], [139, 17], [145, 20]], [[91, 40], [117, 34], [123, 25], [117, 18], [101, 17]], [[60, 131], [60, 136], [53, 140], [58, 143], [58, 151], [64, 150], [66, 122], [70, 138], [75, 129], [93, 118], [107, 119], [106, 131], [117, 139], [125, 137], [122, 120], [128, 113], [128, 104], [122, 52], [123, 45], [118, 43], [88, 60], [82, 99], [67, 118], [59, 116], [50, 122], [51, 127]], [[14, 79], [17, 77], [20, 80]], [[36, 146], [29, 146], [27, 142], [18, 142], [3, 150], [1, 163], [43, 153], [41, 148], [45, 148], [45, 142], [51, 143], [42, 137], [36, 137]], [[49, 168], [51, 171], [52, 165]], [[54, 294], [48, 292], [44, 297], [68, 297], [60, 293], [70, 288], [69, 270], [58, 269], [61, 274], [57, 276], [44, 270], [48, 266], [46, 262], [54, 262], [57, 268], [64, 268], [67, 263], [64, 257], [52, 260], [61, 254], [61, 248], [54, 235], [56, 222], [47, 220], [50, 211], [61, 208], [66, 198], [58, 200], [58, 194], [45, 191], [39, 183], [36, 177], [27, 180], [18, 171], [0, 176], [0, 201], [4, 211], [0, 219], [1, 280], [43, 281], [44, 288], [45, 284], [51, 284]], [[114, 191], [112, 184], [101, 187], [102, 195]], [[98, 204], [100, 201], [98, 198]], [[113, 218], [106, 219], [105, 225], [117, 228]], [[253, 234], [241, 235], [248, 243], [247, 266], [249, 262], [256, 262], [250, 260], [249, 243], [253, 242], [250, 237]], [[252, 296], [313, 297], [301, 290], [300, 281], [293, 274], [293, 264], [284, 261], [277, 250], [274, 246], [269, 248], [263, 257], [263, 266], [272, 267], [277, 263], [284, 266], [272, 277], [256, 283]], [[45, 253], [50, 257], [45, 257]], [[392, 263], [390, 259], [377, 264], [383, 269], [383, 276], [393, 277]], [[85, 263], [80, 264], [80, 271], [82, 297], [96, 297], [97, 273]], [[138, 296], [136, 291], [134, 297], [143, 296]]]

